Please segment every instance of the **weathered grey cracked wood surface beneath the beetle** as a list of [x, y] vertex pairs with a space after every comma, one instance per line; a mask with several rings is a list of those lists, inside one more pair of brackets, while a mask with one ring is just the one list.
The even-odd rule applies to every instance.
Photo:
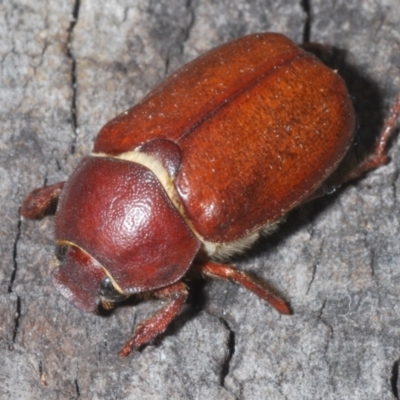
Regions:
[[400, 87], [399, 27], [398, 0], [0, 2], [0, 397], [399, 398], [398, 139], [388, 166], [294, 211], [236, 260], [290, 300], [293, 316], [210, 282], [162, 338], [126, 359], [117, 350], [159, 304], [82, 313], [49, 279], [52, 218], [18, 213], [167, 74], [257, 31], [333, 45], [358, 143], [370, 143]]

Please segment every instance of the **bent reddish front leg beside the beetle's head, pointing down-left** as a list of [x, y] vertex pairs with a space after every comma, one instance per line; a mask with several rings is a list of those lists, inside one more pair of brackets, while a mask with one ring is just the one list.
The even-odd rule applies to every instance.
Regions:
[[176, 282], [155, 291], [154, 294], [160, 299], [170, 298], [172, 301], [136, 328], [132, 338], [118, 353], [119, 356], [126, 357], [132, 350], [136, 350], [164, 332], [185, 304], [188, 291], [182, 282]]

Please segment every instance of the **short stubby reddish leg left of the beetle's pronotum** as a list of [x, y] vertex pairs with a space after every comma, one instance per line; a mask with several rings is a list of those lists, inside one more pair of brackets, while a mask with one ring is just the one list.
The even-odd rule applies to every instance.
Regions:
[[33, 190], [21, 206], [21, 214], [25, 218], [41, 218], [56, 204], [65, 182]]

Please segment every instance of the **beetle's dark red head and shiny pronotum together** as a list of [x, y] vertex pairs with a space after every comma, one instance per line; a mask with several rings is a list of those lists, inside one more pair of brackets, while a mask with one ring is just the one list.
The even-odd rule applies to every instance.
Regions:
[[200, 247], [149, 169], [105, 157], [84, 158], [66, 183], [55, 233], [68, 250], [53, 281], [85, 311], [176, 282]]

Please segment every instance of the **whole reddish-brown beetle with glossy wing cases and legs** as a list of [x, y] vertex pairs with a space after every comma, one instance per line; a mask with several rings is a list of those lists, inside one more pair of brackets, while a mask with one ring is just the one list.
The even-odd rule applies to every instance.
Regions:
[[[376, 149], [342, 181], [387, 161], [400, 97]], [[108, 122], [67, 182], [34, 190], [26, 218], [58, 201], [65, 258], [56, 288], [84, 311], [138, 293], [169, 302], [126, 343], [162, 333], [188, 295], [189, 270], [236, 282], [290, 314], [284, 300], [221, 263], [273, 232], [288, 211], [335, 187], [355, 116], [339, 75], [281, 34], [223, 44], [183, 66]], [[327, 181], [328, 180], [328, 181]]]

